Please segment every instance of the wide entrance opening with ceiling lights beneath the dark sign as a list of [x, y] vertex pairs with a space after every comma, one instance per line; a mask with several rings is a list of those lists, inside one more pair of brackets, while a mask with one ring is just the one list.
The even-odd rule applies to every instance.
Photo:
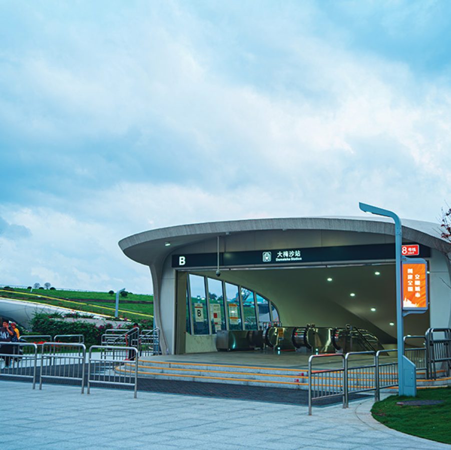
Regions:
[[[220, 276], [216, 269], [178, 270], [175, 352], [243, 350], [246, 341], [249, 349], [279, 353], [314, 352], [318, 348], [335, 351], [343, 347], [346, 327], [356, 330], [354, 342], [361, 330], [371, 335], [371, 340], [375, 337], [383, 348], [390, 348], [396, 337], [394, 270], [390, 262], [222, 269]], [[427, 313], [408, 316], [405, 333], [424, 334], [428, 324]], [[271, 325], [283, 327], [284, 335], [274, 336], [282, 331], [268, 331]], [[254, 330], [263, 330], [262, 341], [253, 337]], [[324, 347], [323, 341], [334, 339], [334, 330], [342, 334], [337, 336], [341, 347]], [[308, 334], [305, 342], [304, 333]], [[320, 333], [329, 333], [330, 338]], [[308, 339], [316, 344], [309, 344]], [[355, 348], [380, 349], [377, 343]]]

